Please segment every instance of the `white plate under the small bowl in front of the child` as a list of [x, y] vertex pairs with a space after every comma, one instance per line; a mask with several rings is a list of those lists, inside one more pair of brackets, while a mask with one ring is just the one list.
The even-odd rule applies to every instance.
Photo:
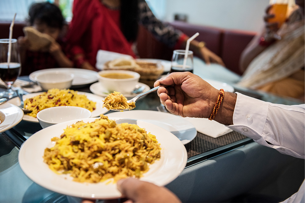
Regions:
[[91, 84], [93, 82], [96, 82], [97, 79], [97, 72], [92, 70], [86, 70], [81, 68], [49, 68], [49, 69], [43, 69], [39, 71], [34, 71], [29, 75], [29, 78], [31, 81], [35, 82], [35, 76], [38, 73], [41, 72], [68, 72], [73, 73], [74, 79], [72, 81], [72, 87], [73, 88], [80, 88], [85, 85]]

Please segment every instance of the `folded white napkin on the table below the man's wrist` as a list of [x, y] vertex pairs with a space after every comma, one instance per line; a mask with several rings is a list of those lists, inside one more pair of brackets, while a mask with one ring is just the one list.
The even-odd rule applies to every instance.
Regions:
[[225, 135], [233, 130], [226, 127], [224, 124], [220, 124], [216, 121], [210, 121], [207, 118], [191, 118], [185, 117], [189, 122], [191, 122], [198, 132], [208, 135], [213, 138]]

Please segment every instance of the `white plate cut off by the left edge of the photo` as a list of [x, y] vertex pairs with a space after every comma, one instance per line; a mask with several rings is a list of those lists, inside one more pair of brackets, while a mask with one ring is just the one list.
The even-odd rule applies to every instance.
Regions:
[[6, 102], [0, 105], [0, 133], [13, 128], [23, 117], [23, 111], [14, 104]]

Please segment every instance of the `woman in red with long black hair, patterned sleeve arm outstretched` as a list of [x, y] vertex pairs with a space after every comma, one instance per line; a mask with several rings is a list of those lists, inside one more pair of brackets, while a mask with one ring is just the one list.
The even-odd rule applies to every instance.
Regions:
[[[97, 70], [99, 50], [137, 58], [138, 25], [174, 49], [185, 49], [188, 36], [157, 19], [145, 0], [74, 0], [66, 40], [77, 68]], [[206, 63], [224, 65], [220, 57], [193, 40], [190, 49]]]

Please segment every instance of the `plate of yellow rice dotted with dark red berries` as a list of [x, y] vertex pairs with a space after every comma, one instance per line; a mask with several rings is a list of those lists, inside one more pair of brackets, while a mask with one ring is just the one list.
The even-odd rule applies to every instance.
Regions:
[[[30, 114], [24, 114], [23, 120], [38, 123], [36, 115], [40, 110], [56, 106], [83, 107], [91, 111], [91, 117], [98, 117], [100, 114], [108, 112], [103, 107], [104, 99], [102, 96], [71, 89], [49, 89], [47, 92], [25, 94], [23, 95], [25, 108], [33, 111]], [[20, 105], [18, 97], [8, 102]]]

